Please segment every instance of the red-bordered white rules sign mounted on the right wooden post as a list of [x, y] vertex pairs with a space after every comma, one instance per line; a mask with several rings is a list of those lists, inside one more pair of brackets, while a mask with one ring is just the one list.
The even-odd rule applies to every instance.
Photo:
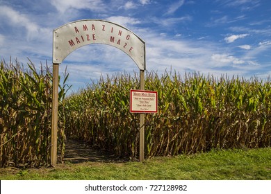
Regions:
[[130, 112], [156, 113], [157, 91], [130, 90]]

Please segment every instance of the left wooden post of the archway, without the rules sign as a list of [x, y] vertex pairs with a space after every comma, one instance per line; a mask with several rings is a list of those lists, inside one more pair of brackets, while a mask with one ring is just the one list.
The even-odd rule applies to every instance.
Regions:
[[58, 155], [58, 69], [59, 64], [53, 64], [53, 99], [51, 116], [51, 166], [56, 166]]

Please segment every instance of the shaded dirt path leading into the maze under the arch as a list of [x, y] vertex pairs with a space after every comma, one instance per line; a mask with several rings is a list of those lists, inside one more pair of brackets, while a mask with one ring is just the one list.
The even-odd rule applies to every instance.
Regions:
[[[65, 143], [64, 162], [81, 163], [85, 161], [93, 162], [116, 162], [114, 155], [106, 151], [93, 148], [84, 141], [67, 140]], [[122, 161], [123, 162], [123, 161]]]

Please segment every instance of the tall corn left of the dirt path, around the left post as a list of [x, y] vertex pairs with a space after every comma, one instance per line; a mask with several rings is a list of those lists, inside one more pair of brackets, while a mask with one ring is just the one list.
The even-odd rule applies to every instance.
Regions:
[[[67, 77], [67, 76], [66, 76]], [[66, 78], [67, 79], [67, 78]], [[58, 149], [64, 155], [65, 117], [61, 112], [65, 83], [60, 86]], [[19, 62], [1, 61], [0, 132], [1, 166], [47, 166], [51, 146], [52, 73], [40, 71], [30, 62], [24, 69]]]

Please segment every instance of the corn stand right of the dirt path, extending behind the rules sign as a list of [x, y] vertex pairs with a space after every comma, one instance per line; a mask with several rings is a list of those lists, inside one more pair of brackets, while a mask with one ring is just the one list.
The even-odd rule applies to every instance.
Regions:
[[[271, 81], [151, 71], [145, 89], [158, 91], [158, 113], [146, 114], [145, 157], [271, 145]], [[101, 78], [66, 99], [66, 134], [120, 157], [138, 157], [139, 115], [129, 91], [139, 76]]]

